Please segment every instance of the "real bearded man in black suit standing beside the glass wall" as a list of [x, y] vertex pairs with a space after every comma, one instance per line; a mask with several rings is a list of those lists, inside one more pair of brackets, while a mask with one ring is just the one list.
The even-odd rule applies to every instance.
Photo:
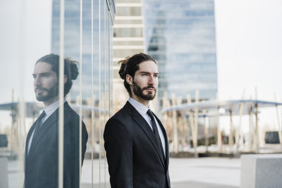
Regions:
[[169, 188], [166, 131], [148, 108], [157, 92], [157, 63], [136, 54], [122, 61], [119, 74], [130, 98], [104, 131], [111, 187]]

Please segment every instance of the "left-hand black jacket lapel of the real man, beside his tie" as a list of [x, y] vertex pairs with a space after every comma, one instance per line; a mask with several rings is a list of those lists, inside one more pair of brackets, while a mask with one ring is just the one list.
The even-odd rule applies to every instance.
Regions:
[[156, 151], [159, 155], [159, 159], [161, 160], [161, 163], [164, 165], [164, 168], [166, 169], [166, 165], [164, 163], [164, 157], [162, 156], [163, 154], [159, 150], [157, 139], [154, 135], [154, 132], [149, 127], [147, 121], [142, 117], [142, 115], [140, 113], [138, 113], [138, 111], [129, 102], [127, 102], [125, 104], [125, 109], [132, 116], [135, 123], [137, 123], [137, 125], [139, 125], [141, 127], [141, 129], [145, 132], [145, 134], [147, 135], [149, 140], [152, 142], [154, 149], [156, 149]]

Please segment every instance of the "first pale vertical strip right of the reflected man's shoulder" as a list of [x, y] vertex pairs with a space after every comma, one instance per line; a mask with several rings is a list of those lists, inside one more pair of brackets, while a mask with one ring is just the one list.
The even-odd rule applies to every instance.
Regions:
[[93, 153], [94, 153], [94, 4], [91, 0], [91, 187], [94, 188]]

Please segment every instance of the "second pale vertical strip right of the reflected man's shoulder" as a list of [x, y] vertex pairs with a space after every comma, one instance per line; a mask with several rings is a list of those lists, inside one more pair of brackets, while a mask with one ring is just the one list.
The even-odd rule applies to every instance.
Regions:
[[101, 0], [99, 0], [99, 188], [101, 188]]

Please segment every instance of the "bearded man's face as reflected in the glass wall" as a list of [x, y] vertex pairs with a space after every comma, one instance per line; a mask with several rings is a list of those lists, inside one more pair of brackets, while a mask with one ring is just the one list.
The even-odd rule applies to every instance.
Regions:
[[37, 101], [53, 101], [58, 96], [58, 78], [49, 63], [38, 62], [32, 74]]

